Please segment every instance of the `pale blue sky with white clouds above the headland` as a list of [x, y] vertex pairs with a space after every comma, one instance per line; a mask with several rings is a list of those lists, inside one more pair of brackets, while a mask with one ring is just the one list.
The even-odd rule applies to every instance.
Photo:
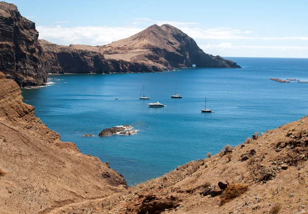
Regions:
[[7, 2], [35, 22], [40, 38], [61, 45], [104, 45], [170, 24], [213, 55], [308, 58], [308, 0]]

